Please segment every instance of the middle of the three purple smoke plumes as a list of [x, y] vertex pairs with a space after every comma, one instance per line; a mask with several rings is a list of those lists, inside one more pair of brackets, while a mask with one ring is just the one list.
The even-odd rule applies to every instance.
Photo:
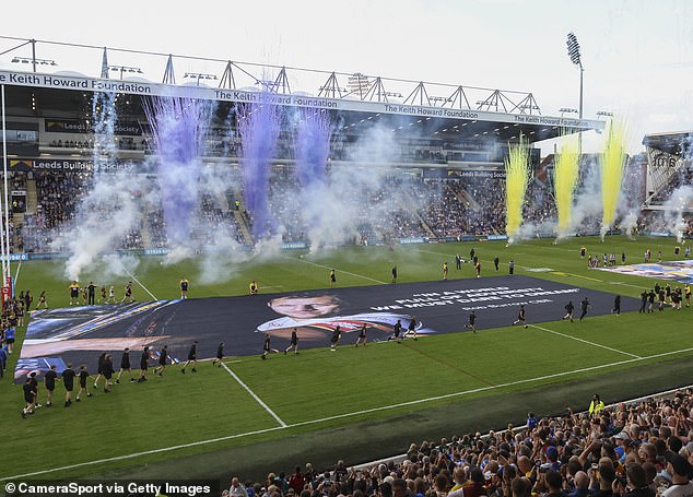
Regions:
[[272, 234], [272, 217], [268, 208], [269, 173], [277, 152], [280, 120], [278, 107], [267, 102], [243, 105], [237, 113], [244, 200], [252, 217], [252, 237], [256, 241]]

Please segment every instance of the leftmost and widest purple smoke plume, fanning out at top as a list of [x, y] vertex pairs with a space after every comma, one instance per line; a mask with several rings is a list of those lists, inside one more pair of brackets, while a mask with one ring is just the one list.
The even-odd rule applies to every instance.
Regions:
[[211, 104], [184, 97], [153, 97], [144, 113], [158, 155], [158, 186], [171, 247], [189, 245], [198, 206], [199, 157], [211, 116]]

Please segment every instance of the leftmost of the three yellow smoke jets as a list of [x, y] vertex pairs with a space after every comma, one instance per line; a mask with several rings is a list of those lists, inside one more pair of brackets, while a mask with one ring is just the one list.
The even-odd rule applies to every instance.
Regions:
[[522, 223], [522, 205], [529, 181], [529, 147], [520, 134], [519, 143], [508, 145], [505, 159], [505, 233], [512, 242]]

